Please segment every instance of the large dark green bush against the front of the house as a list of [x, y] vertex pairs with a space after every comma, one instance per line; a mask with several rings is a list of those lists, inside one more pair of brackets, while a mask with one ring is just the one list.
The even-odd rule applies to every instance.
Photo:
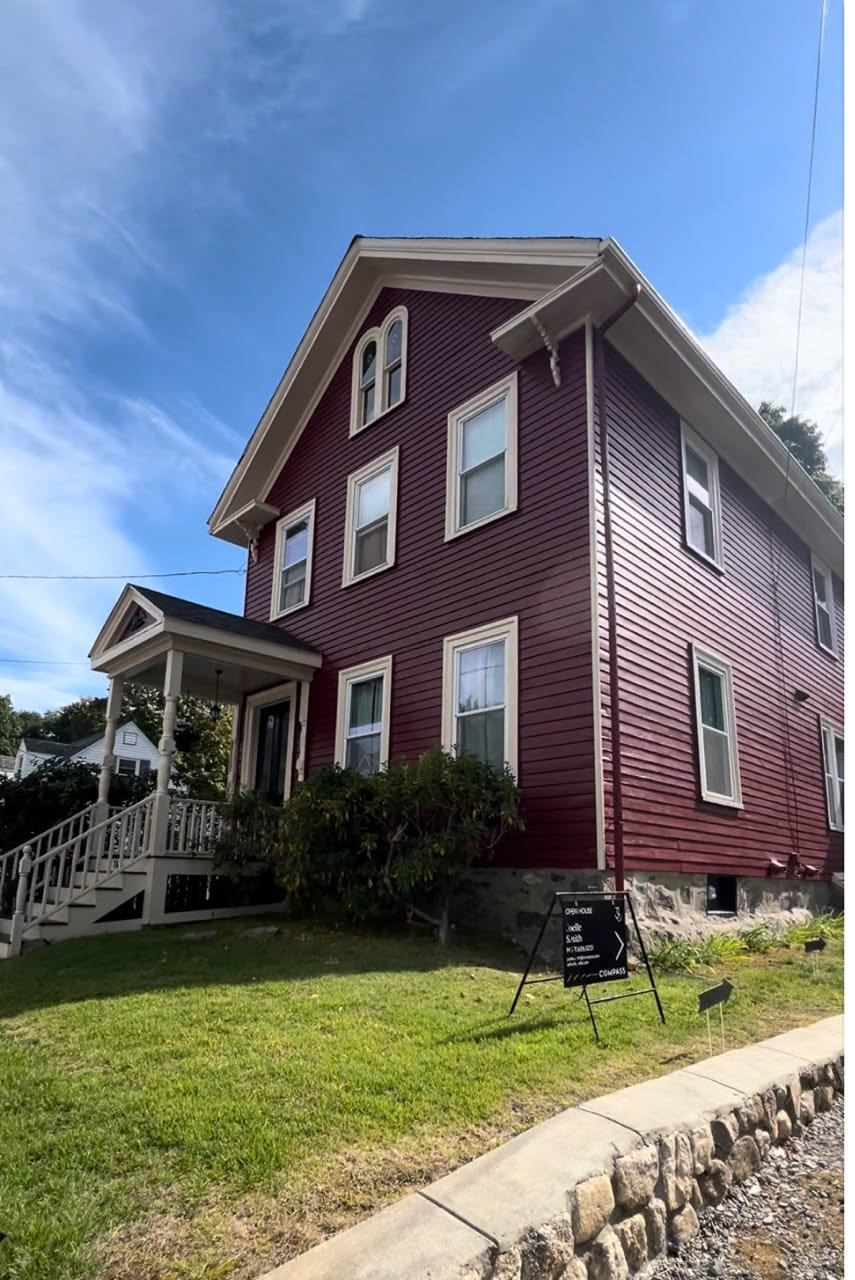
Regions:
[[357, 923], [417, 916], [442, 941], [466, 869], [522, 827], [509, 771], [440, 750], [369, 777], [323, 768], [283, 809], [242, 796], [229, 818], [220, 863], [274, 865], [297, 910], [332, 905]]

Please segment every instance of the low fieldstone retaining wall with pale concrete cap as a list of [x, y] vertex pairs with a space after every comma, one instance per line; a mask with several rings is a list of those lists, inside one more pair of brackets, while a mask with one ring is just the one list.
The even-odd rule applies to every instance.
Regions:
[[626, 1280], [842, 1089], [827, 1018], [571, 1107], [261, 1280]]

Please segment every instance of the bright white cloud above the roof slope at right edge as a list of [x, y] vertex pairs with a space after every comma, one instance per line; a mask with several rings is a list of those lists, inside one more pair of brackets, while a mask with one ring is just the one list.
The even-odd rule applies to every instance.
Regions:
[[[843, 445], [842, 247], [842, 214], [824, 219], [808, 239], [796, 388], [796, 413], [817, 422], [838, 474]], [[790, 408], [800, 278], [797, 248], [754, 280], [714, 333], [700, 339], [755, 406], [765, 399]]]

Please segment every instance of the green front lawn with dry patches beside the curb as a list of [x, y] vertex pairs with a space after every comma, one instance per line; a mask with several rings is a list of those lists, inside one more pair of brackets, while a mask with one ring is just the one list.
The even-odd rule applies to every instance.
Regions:
[[[666, 1028], [650, 997], [600, 1006], [598, 1047], [561, 983], [508, 1019], [521, 960], [493, 943], [246, 927], [3, 964], [0, 1276], [255, 1276], [562, 1107], [708, 1053], [696, 977], [660, 977]], [[728, 1047], [842, 1006], [837, 938], [815, 973], [791, 948], [715, 975], [736, 988]]]

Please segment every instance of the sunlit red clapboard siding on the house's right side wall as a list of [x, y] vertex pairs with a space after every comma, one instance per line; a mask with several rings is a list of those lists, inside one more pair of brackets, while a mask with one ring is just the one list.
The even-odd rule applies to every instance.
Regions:
[[[701, 562], [683, 544], [677, 415], [612, 348], [607, 385], [626, 868], [762, 876], [769, 858], [786, 863], [795, 851], [823, 872], [840, 869], [818, 721], [842, 727], [842, 584], [835, 580], [835, 659], [815, 640], [809, 548], [719, 461], [724, 572]], [[611, 855], [602, 521], [599, 534]], [[692, 643], [733, 668], [741, 810], [699, 799]], [[806, 703], [794, 701], [796, 689]]]

